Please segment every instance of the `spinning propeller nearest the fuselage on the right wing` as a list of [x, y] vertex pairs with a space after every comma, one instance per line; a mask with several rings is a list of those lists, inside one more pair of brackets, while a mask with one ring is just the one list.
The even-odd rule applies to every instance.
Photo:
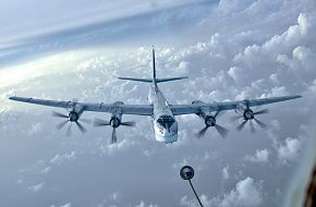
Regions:
[[223, 126], [221, 126], [221, 125], [219, 125], [219, 124], [216, 123], [216, 118], [219, 114], [222, 114], [222, 112], [221, 111], [216, 111], [216, 113], [214, 115], [206, 115], [205, 117], [205, 119], [204, 119], [205, 120], [205, 127], [202, 129], [197, 133], [197, 137], [198, 138], [202, 138], [205, 135], [205, 133], [209, 129], [209, 126], [214, 126], [217, 130], [217, 132], [219, 133], [219, 135], [221, 137], [223, 137], [223, 138], [228, 135], [228, 132], [229, 131], [226, 127], [223, 127]]

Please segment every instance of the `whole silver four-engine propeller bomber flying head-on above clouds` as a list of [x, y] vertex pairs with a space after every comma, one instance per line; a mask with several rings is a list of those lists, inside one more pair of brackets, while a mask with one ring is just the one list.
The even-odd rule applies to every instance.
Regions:
[[[69, 114], [62, 114], [59, 112], [53, 112], [54, 117], [65, 119], [63, 122], [57, 125], [58, 129], [63, 127], [68, 122], [75, 123], [77, 127], [85, 132], [85, 127], [78, 122], [88, 120], [82, 119], [81, 115], [84, 111], [95, 111], [95, 112], [107, 112], [111, 113], [110, 121], [105, 121], [96, 119], [94, 122], [95, 126], [111, 126], [112, 136], [111, 143], [117, 142], [117, 127], [123, 126], [133, 126], [134, 122], [123, 122], [123, 114], [134, 114], [134, 115], [149, 115], [153, 121], [153, 129], [155, 137], [158, 142], [162, 143], [173, 143], [178, 141], [178, 122], [175, 115], [182, 114], [192, 114], [195, 113], [202, 118], [205, 122], [205, 127], [198, 132], [198, 137], [202, 137], [208, 127], [214, 126], [221, 136], [227, 136], [228, 130], [217, 123], [217, 117], [226, 110], [235, 110], [239, 113], [234, 120], [243, 120], [236, 130], [240, 131], [244, 127], [246, 122], [250, 122], [252, 131], [255, 131], [253, 121], [258, 124], [260, 127], [266, 127], [266, 124], [259, 121], [256, 117], [259, 114], [267, 113], [267, 109], [259, 111], [253, 111], [251, 107], [268, 105], [274, 102], [280, 102], [284, 100], [300, 98], [301, 96], [281, 96], [281, 97], [271, 97], [271, 98], [259, 98], [259, 99], [245, 99], [238, 101], [226, 101], [226, 102], [214, 102], [205, 104], [200, 100], [195, 100], [191, 105], [170, 105], [162, 92], [158, 87], [158, 83], [171, 82], [177, 80], [187, 78], [186, 76], [181, 77], [168, 77], [168, 78], [158, 78], [156, 77], [156, 63], [155, 63], [155, 49], [153, 48], [153, 76], [151, 78], [135, 78], [135, 77], [119, 77], [120, 80], [125, 81], [135, 81], [135, 82], [145, 82], [149, 84], [149, 94], [148, 94], [148, 105], [124, 105], [121, 101], [116, 101], [113, 104], [87, 104], [78, 101], [56, 101], [56, 100], [45, 100], [45, 99], [35, 99], [35, 98], [25, 98], [13, 96], [9, 99], [44, 105], [49, 107], [65, 108], [69, 110]], [[71, 133], [71, 124], [68, 127], [68, 133]]]

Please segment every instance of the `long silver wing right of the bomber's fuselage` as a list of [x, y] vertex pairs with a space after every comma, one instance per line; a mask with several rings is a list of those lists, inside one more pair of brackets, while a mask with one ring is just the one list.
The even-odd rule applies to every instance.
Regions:
[[193, 105], [171, 105], [170, 108], [174, 115], [200, 113], [202, 110], [211, 111], [222, 111], [236, 109], [239, 106], [244, 105], [248, 107], [269, 105], [274, 102], [280, 102], [285, 100], [291, 100], [295, 98], [301, 98], [302, 96], [280, 96], [271, 98], [258, 98], [258, 99], [246, 99], [238, 101], [226, 101], [226, 102], [214, 102], [214, 104], [193, 104]]

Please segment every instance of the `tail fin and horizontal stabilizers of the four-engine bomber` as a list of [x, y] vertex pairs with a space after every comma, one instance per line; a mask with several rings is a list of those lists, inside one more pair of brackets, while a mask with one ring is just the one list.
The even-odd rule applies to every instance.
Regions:
[[157, 76], [156, 76], [156, 62], [155, 62], [155, 48], [153, 46], [153, 77], [151, 78], [137, 78], [137, 77], [118, 77], [118, 78], [119, 80], [126, 80], [126, 81], [153, 83], [153, 85], [155, 87], [157, 87], [157, 83], [172, 82], [172, 81], [177, 81], [177, 80], [184, 80], [184, 78], [187, 78], [187, 76], [157, 78]]

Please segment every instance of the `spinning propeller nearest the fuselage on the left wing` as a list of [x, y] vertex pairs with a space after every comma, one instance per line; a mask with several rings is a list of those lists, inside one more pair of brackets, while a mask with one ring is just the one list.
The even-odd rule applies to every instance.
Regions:
[[94, 122], [94, 126], [111, 126], [112, 127], [111, 144], [114, 144], [118, 142], [117, 127], [119, 127], [120, 125], [132, 127], [132, 126], [135, 126], [135, 122], [133, 121], [121, 122], [121, 120], [117, 117], [112, 117], [110, 121], [95, 119], [95, 122]]

